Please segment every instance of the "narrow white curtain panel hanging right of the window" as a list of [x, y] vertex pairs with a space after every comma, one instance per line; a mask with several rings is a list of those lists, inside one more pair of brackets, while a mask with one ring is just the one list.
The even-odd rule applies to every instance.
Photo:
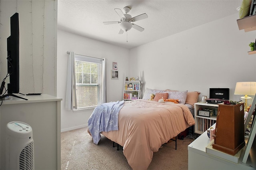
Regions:
[[101, 88], [101, 103], [106, 103], [107, 101], [107, 95], [106, 95], [106, 89], [107, 89], [107, 83], [106, 83], [106, 58], [103, 58], [101, 61], [102, 66], [102, 88]]

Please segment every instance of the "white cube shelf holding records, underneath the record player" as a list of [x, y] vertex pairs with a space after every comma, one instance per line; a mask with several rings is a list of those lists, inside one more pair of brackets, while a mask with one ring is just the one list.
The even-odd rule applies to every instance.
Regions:
[[[199, 111], [213, 112], [212, 116], [200, 116], [198, 115]], [[216, 104], [209, 104], [209, 103], [195, 103], [195, 109], [194, 109], [194, 119], [195, 119], [195, 128], [194, 132], [198, 134], [202, 134], [204, 131], [206, 131], [209, 127], [211, 127], [214, 123], [216, 123], [217, 119], [217, 111], [218, 111], [218, 105]]]

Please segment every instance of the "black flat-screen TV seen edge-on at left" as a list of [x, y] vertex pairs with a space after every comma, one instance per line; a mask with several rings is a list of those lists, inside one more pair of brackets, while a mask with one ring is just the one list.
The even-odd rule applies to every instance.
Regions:
[[19, 64], [19, 14], [10, 17], [10, 36], [7, 38], [7, 72], [10, 83], [7, 85], [8, 94], [20, 92]]

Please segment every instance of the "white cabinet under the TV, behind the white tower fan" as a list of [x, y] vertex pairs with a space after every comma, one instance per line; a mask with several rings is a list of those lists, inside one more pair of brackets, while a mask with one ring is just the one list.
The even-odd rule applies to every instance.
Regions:
[[[23, 95], [22, 95], [23, 97]], [[12, 97], [0, 107], [0, 162], [5, 168], [6, 125], [21, 121], [32, 127], [35, 170], [60, 170], [60, 102], [50, 95]]]

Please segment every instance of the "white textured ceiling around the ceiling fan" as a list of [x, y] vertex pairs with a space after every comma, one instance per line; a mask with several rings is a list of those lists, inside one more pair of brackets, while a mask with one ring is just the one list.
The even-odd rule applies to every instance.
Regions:
[[[184, 30], [237, 14], [242, 0], [58, 0], [58, 29], [102, 42], [133, 48], [177, 34]], [[146, 13], [148, 18], [134, 22], [145, 30], [131, 29], [118, 34], [120, 21], [114, 8], [131, 8], [132, 17]], [[128, 42], [126, 42], [126, 39]]]

